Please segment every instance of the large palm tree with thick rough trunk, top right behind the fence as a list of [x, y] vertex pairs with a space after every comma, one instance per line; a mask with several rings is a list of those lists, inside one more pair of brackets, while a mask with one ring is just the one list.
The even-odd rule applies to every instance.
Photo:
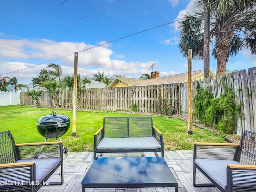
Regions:
[[[214, 18], [210, 22], [212, 26], [210, 34], [215, 39], [213, 55], [217, 59], [216, 74], [218, 76], [226, 73], [226, 62], [228, 58], [236, 55], [242, 47], [250, 48], [252, 54], [256, 54], [255, 0], [198, 0], [197, 3], [201, 6], [209, 7], [210, 15]], [[185, 16], [185, 19], [189, 23], [188, 17]], [[190, 21], [194, 19], [202, 20], [202, 16], [192, 16]], [[185, 22], [185, 20], [182, 22]], [[198, 35], [203, 34], [201, 29], [202, 26], [196, 27], [196, 31], [199, 33]], [[182, 39], [186, 39], [186, 34], [189, 35], [190, 32], [186, 29], [186, 25], [182, 26], [182, 32], [180, 34], [181, 43], [179, 47], [181, 48], [181, 52], [185, 54], [184, 49], [186, 46], [184, 46], [184, 40]], [[192, 40], [196, 48], [198, 48], [195, 44], [197, 40], [198, 38]], [[198, 43], [200, 42], [198, 41]], [[195, 54], [200, 57], [198, 52]]]

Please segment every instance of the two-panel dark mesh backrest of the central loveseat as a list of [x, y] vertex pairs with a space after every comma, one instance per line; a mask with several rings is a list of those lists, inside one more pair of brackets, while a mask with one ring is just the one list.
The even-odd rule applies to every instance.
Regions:
[[150, 137], [153, 120], [151, 116], [104, 117], [104, 137]]

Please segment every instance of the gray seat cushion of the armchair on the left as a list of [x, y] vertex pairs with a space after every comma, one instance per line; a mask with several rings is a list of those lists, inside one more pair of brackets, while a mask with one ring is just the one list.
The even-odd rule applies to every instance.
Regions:
[[36, 182], [44, 178], [61, 162], [61, 158], [21, 159], [17, 162], [36, 162]]

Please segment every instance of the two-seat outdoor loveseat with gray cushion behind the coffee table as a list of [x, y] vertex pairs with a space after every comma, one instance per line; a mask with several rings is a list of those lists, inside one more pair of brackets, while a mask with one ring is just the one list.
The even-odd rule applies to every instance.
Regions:
[[94, 160], [96, 153], [161, 152], [164, 157], [164, 139], [151, 116], [104, 117], [93, 150]]

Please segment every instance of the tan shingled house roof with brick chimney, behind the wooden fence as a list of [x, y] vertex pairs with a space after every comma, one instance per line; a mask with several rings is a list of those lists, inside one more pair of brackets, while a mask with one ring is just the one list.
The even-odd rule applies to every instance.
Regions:
[[[193, 71], [192, 77], [195, 78], [204, 73], [204, 70]], [[116, 82], [122, 81], [129, 86], [146, 86], [146, 85], [158, 85], [158, 84], [169, 84], [169, 83], [180, 83], [188, 79], [188, 73], [181, 73], [175, 75], [169, 75], [164, 77], [159, 77], [155, 79], [135, 79], [135, 78], [124, 78], [117, 77], [114, 79], [107, 87], [112, 87]]]

